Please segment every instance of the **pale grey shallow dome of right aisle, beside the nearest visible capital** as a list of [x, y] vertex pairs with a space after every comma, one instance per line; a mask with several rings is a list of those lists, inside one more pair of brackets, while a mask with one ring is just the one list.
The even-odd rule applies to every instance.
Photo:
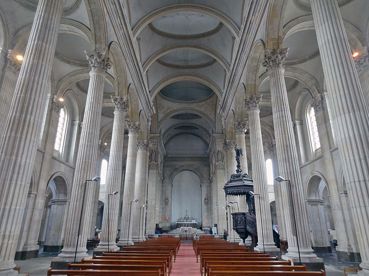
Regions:
[[283, 41], [283, 47], [289, 47], [286, 60], [296, 60], [310, 56], [319, 50], [315, 30], [292, 33]]

